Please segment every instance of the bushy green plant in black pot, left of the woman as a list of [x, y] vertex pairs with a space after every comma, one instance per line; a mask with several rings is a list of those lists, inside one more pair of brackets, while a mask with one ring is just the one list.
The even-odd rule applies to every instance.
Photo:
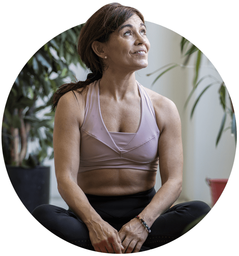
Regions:
[[[74, 78], [71, 63], [83, 63], [76, 54], [81, 25], [46, 42], [24, 65], [7, 98], [2, 123], [4, 163], [12, 186], [29, 212], [49, 203], [53, 154], [54, 112], [51, 102], [64, 78]], [[31, 144], [35, 149], [30, 149]]]

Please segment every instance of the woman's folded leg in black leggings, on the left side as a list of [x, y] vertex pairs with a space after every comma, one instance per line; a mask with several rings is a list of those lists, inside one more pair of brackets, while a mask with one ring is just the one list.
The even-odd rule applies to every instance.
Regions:
[[32, 216], [54, 235], [79, 247], [93, 249], [87, 226], [77, 216], [61, 207], [43, 204]]

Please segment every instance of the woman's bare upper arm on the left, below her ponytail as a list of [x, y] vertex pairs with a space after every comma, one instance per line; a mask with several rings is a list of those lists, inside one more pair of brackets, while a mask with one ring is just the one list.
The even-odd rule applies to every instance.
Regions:
[[[53, 147], [57, 181], [72, 177], [76, 182], [80, 161], [80, 126], [84, 120], [83, 97], [68, 92], [55, 111]], [[78, 102], [77, 102], [78, 101]]]

